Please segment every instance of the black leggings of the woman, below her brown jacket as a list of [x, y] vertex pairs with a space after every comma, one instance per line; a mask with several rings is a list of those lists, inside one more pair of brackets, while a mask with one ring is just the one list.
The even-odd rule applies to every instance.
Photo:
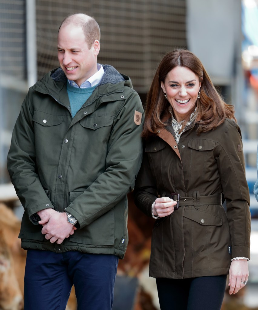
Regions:
[[156, 278], [161, 310], [220, 310], [227, 276]]

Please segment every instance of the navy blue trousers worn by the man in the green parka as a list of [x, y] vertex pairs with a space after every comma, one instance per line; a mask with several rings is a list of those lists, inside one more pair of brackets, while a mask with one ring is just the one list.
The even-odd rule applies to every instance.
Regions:
[[65, 310], [74, 284], [78, 310], [111, 310], [118, 257], [28, 250], [24, 310]]

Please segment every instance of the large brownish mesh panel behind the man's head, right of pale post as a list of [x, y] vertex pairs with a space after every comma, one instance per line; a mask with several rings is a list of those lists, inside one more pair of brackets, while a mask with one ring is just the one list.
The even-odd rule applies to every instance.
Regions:
[[94, 16], [101, 30], [98, 62], [129, 75], [146, 93], [160, 57], [186, 47], [185, 0], [37, 0], [38, 77], [57, 67], [56, 37], [71, 13]]

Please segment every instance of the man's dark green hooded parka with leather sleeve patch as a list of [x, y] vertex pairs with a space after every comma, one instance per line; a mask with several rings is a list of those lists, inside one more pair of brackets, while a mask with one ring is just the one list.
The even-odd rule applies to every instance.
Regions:
[[[142, 160], [143, 108], [131, 81], [112, 66], [74, 118], [58, 68], [30, 88], [15, 124], [8, 170], [24, 206], [25, 249], [114, 254], [128, 243], [126, 194]], [[77, 230], [62, 244], [41, 233], [37, 211], [66, 210]]]

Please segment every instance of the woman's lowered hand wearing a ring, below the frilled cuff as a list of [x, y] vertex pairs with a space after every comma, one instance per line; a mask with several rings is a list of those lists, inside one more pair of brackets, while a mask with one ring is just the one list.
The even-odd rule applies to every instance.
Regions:
[[248, 262], [247, 259], [232, 260], [229, 270], [229, 293], [236, 294], [245, 285], [241, 282], [248, 280]]

